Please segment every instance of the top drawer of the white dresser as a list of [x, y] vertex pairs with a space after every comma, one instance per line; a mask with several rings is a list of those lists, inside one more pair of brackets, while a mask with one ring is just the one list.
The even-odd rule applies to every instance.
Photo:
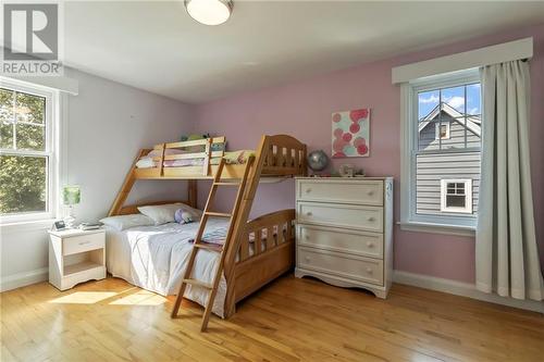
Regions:
[[297, 199], [383, 205], [383, 182], [346, 179], [300, 179], [297, 183]]

